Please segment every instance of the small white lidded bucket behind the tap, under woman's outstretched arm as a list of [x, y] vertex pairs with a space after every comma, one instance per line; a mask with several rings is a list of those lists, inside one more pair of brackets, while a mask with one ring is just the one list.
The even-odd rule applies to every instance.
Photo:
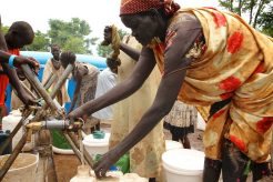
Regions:
[[87, 135], [82, 143], [89, 154], [94, 156], [95, 154], [104, 154], [108, 152], [110, 133], [105, 133], [103, 139], [94, 139], [93, 134]]

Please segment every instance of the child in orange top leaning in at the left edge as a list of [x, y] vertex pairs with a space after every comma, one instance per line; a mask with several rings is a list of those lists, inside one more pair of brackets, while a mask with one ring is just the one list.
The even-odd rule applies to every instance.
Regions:
[[[34, 39], [34, 32], [31, 26], [26, 21], [16, 21], [11, 24], [8, 32], [2, 37], [1, 33], [1, 44], [2, 50], [7, 50], [8, 53], [12, 54], [14, 59], [20, 58], [28, 62], [31, 68], [39, 69], [39, 63], [33, 58], [14, 57], [20, 55], [20, 49], [24, 46], [31, 44]], [[10, 57], [11, 58], [11, 57]], [[18, 61], [17, 61], [18, 62]], [[20, 67], [18, 67], [20, 69]], [[12, 88], [17, 90], [18, 97], [24, 104], [33, 104], [33, 98], [31, 98], [26, 90], [21, 87], [18, 75], [14, 69], [1, 64], [0, 65], [0, 107], [4, 107], [4, 93], [6, 89], [11, 83]]]

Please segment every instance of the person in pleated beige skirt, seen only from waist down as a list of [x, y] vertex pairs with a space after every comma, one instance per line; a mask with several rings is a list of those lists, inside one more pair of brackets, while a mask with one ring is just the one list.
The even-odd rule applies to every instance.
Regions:
[[173, 141], [180, 141], [184, 149], [191, 149], [189, 133], [194, 132], [198, 122], [198, 110], [176, 100], [170, 113], [164, 118], [164, 129], [170, 130]]

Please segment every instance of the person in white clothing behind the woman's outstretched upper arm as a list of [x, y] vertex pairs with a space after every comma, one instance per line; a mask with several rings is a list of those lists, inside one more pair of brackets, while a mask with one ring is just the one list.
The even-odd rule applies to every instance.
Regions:
[[[99, 98], [109, 90], [111, 90], [117, 84], [117, 74], [118, 74], [118, 67], [121, 62], [118, 60], [107, 59], [107, 65], [104, 70], [102, 70], [98, 77], [98, 84], [95, 90], [95, 97]], [[103, 108], [100, 111], [93, 113], [93, 117], [100, 120], [100, 123], [105, 123], [111, 125], [113, 120], [113, 107]]]

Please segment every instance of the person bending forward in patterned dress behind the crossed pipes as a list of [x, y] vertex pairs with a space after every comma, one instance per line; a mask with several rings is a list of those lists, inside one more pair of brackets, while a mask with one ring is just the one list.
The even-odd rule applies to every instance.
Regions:
[[[67, 54], [73, 54], [73, 60], [67, 59]], [[72, 71], [72, 78], [75, 81], [75, 89], [73, 93], [73, 99], [69, 109], [69, 112], [71, 112], [74, 107], [81, 107], [84, 103], [87, 103], [90, 100], [94, 99], [95, 95], [95, 89], [97, 89], [97, 82], [98, 82], [98, 75], [100, 73], [100, 70], [91, 65], [89, 63], [79, 62], [75, 61], [75, 55], [72, 52], [64, 52], [61, 53], [61, 65], [65, 69], [69, 63], [72, 63], [74, 65], [74, 69]], [[94, 130], [100, 130], [99, 121], [95, 120], [92, 115], [88, 115], [84, 118], [85, 124], [84, 124], [84, 131], [89, 133], [89, 129], [91, 129], [91, 132]]]

